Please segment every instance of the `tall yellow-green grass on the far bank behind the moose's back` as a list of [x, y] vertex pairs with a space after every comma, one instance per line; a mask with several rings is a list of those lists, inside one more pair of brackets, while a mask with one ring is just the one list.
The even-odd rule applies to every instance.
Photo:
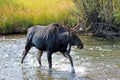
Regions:
[[23, 33], [31, 25], [74, 18], [71, 0], [0, 0], [0, 34]]

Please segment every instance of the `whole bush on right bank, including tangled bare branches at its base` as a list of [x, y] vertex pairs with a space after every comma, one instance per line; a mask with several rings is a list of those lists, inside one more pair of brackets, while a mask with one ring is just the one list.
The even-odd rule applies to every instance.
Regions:
[[120, 0], [74, 0], [85, 19], [84, 31], [94, 36], [120, 39]]

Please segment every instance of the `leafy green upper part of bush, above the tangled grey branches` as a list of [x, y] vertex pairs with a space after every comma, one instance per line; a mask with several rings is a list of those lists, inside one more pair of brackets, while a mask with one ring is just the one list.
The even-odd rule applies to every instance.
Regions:
[[81, 17], [91, 22], [120, 24], [120, 0], [75, 0]]

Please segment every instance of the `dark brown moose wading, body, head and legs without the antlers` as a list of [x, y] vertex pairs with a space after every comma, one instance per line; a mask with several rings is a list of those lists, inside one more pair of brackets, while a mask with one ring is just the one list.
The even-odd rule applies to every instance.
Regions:
[[49, 69], [52, 69], [52, 54], [59, 51], [69, 59], [71, 63], [71, 71], [74, 73], [72, 57], [70, 56], [71, 46], [83, 48], [83, 42], [72, 31], [57, 23], [49, 24], [48, 26], [36, 25], [28, 29], [27, 42], [21, 63], [25, 59], [31, 47], [36, 47], [39, 50], [37, 60], [41, 65], [41, 56], [43, 51], [47, 51], [47, 59]]

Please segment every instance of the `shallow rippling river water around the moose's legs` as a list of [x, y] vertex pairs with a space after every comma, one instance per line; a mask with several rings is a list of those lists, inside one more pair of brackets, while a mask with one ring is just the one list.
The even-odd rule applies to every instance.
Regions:
[[42, 67], [32, 48], [21, 64], [26, 42], [25, 35], [0, 36], [0, 80], [120, 80], [120, 41], [101, 40], [80, 36], [84, 49], [72, 47], [76, 73], [70, 72], [69, 61], [57, 52], [53, 57], [53, 70], [49, 72], [46, 52]]

